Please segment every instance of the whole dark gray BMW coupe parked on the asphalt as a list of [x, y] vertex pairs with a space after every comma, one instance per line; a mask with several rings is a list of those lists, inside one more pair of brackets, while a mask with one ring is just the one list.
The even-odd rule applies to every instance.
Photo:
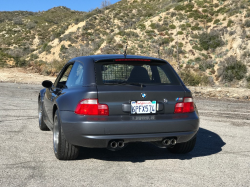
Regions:
[[76, 159], [79, 147], [116, 151], [128, 143], [151, 142], [184, 154], [195, 146], [199, 117], [192, 94], [162, 59], [77, 57], [54, 83], [42, 85], [39, 127], [53, 131], [59, 160]]

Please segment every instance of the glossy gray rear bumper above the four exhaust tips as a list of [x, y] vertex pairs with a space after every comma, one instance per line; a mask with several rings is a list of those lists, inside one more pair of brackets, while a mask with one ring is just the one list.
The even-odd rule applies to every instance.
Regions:
[[108, 147], [110, 140], [154, 142], [176, 137], [177, 143], [190, 140], [199, 129], [199, 117], [189, 114], [137, 116], [80, 116], [60, 111], [67, 141], [83, 147]]

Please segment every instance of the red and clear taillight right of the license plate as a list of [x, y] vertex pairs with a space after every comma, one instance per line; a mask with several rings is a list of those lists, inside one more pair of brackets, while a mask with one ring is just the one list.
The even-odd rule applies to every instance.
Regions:
[[189, 113], [194, 112], [193, 98], [185, 97], [183, 102], [176, 103], [174, 113]]

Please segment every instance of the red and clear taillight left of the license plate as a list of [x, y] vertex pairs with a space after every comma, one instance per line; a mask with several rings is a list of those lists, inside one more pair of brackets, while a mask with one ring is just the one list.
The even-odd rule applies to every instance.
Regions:
[[83, 99], [78, 103], [75, 113], [79, 115], [108, 116], [109, 107], [105, 104], [99, 104], [98, 99]]

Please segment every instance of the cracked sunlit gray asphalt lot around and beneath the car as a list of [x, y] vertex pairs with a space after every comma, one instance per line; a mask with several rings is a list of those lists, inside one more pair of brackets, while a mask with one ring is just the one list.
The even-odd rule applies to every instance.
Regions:
[[250, 186], [249, 102], [195, 98], [200, 130], [186, 155], [133, 143], [58, 161], [52, 132], [38, 127], [41, 88], [0, 83], [0, 186]]

